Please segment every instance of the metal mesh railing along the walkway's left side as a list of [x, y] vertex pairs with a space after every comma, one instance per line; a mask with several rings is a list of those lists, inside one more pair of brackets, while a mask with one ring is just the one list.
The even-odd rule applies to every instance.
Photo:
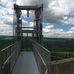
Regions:
[[11, 74], [19, 53], [20, 42], [15, 42], [0, 51], [0, 74]]

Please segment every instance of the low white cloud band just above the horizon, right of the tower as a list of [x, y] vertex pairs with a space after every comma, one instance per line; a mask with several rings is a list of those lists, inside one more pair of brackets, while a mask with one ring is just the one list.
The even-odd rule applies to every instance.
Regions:
[[71, 27], [68, 31], [63, 29], [44, 29], [44, 37], [57, 37], [57, 38], [74, 38], [74, 27]]

